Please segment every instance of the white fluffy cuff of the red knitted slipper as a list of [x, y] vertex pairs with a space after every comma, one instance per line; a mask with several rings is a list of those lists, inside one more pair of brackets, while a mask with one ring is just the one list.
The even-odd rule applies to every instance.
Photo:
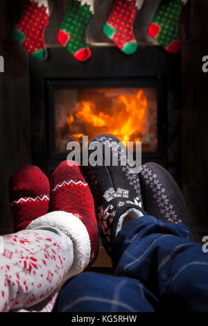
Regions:
[[67, 275], [72, 276], [82, 272], [89, 264], [91, 244], [87, 229], [80, 218], [71, 213], [55, 211], [36, 218], [27, 229], [46, 225], [57, 228], [73, 242], [73, 264]]

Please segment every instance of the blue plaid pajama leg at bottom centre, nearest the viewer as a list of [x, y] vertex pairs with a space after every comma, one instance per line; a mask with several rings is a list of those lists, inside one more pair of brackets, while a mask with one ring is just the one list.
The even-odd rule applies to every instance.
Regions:
[[151, 312], [155, 301], [138, 280], [81, 273], [62, 286], [53, 312]]

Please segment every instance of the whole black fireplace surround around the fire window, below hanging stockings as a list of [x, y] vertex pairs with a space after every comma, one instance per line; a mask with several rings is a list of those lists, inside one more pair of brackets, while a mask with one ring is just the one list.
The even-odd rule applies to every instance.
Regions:
[[92, 53], [92, 58], [83, 63], [60, 48], [50, 49], [45, 62], [31, 57], [33, 164], [50, 174], [67, 158], [55, 153], [54, 88], [154, 87], [157, 89], [158, 151], [143, 153], [142, 162], [157, 162], [167, 168], [167, 96], [168, 92], [180, 94], [180, 55], [169, 55], [158, 46], [139, 46], [132, 55], [124, 55], [114, 47], [95, 47]]

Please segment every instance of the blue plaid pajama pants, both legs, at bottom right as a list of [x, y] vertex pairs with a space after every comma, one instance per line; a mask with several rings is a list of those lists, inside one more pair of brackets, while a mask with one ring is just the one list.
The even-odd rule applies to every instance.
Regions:
[[114, 240], [112, 262], [115, 276], [67, 280], [53, 312], [208, 311], [208, 253], [184, 225], [130, 221]]

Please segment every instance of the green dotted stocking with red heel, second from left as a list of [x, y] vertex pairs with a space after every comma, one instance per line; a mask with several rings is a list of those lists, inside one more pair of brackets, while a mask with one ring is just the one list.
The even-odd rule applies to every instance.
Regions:
[[93, 8], [94, 0], [70, 0], [58, 32], [58, 42], [78, 61], [85, 61], [91, 55], [85, 33], [94, 13]]

